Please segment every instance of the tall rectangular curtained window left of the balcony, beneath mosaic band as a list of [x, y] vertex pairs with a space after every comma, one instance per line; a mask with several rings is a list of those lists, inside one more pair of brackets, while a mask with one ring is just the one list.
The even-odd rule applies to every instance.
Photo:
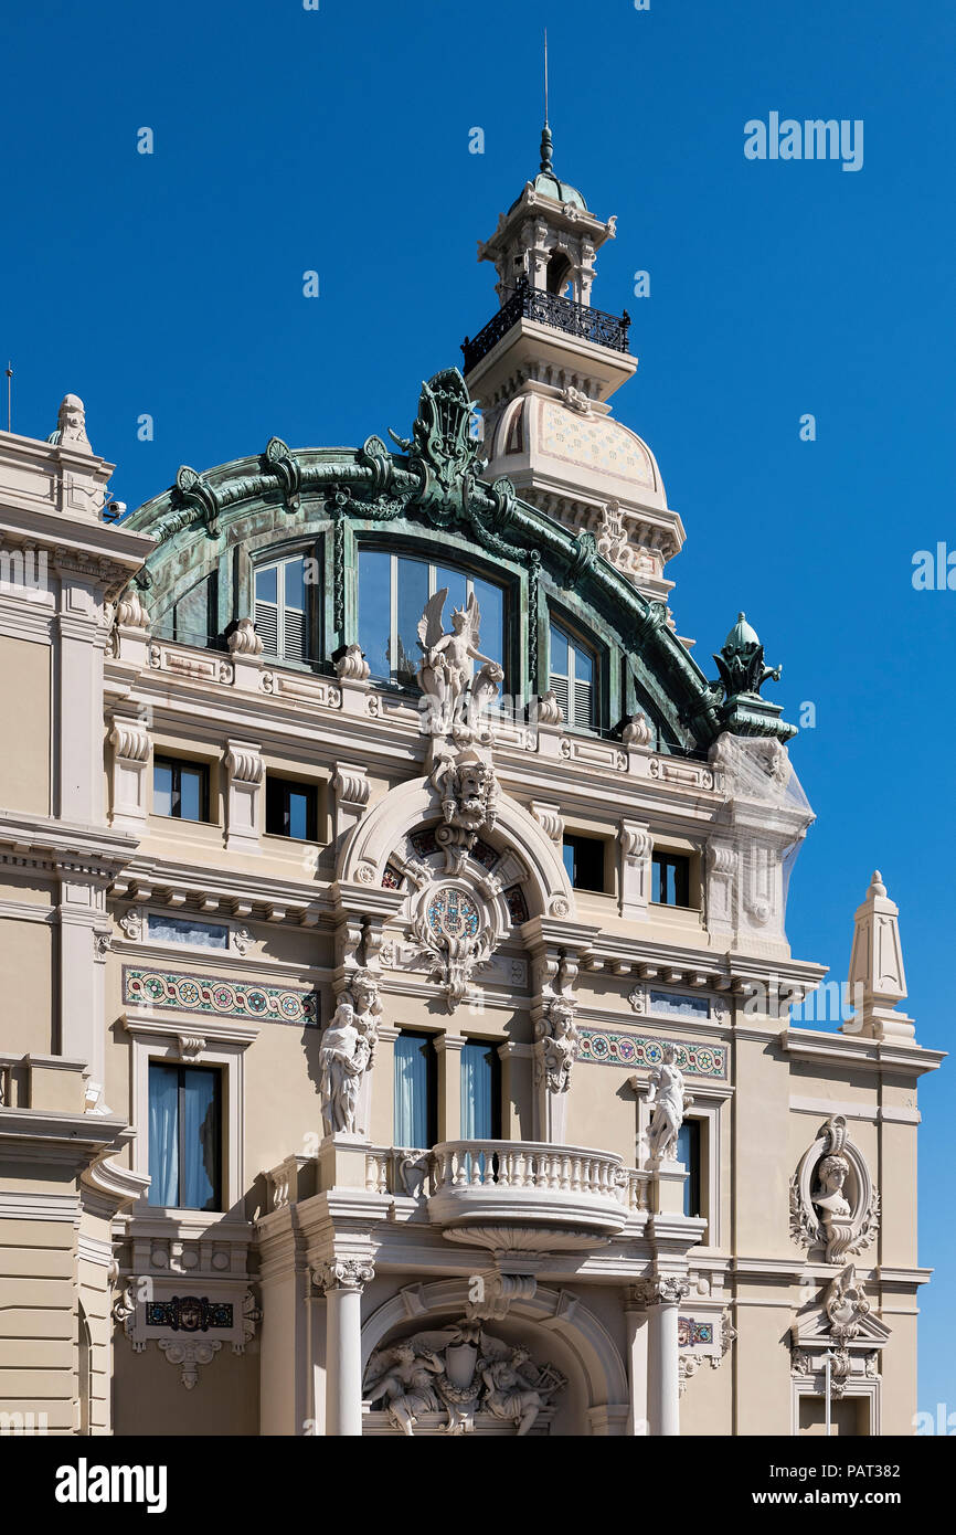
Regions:
[[215, 1067], [149, 1065], [149, 1203], [221, 1210], [219, 1073]]

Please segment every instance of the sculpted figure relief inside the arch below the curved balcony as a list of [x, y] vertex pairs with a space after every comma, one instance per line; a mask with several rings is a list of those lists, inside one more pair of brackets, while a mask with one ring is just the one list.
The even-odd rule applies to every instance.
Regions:
[[480, 1322], [463, 1319], [436, 1332], [416, 1332], [368, 1360], [364, 1397], [381, 1401], [394, 1426], [413, 1437], [427, 1412], [448, 1414], [447, 1434], [474, 1431], [477, 1412], [528, 1434], [548, 1400], [566, 1386], [551, 1365], [537, 1368], [525, 1348], [490, 1337]]

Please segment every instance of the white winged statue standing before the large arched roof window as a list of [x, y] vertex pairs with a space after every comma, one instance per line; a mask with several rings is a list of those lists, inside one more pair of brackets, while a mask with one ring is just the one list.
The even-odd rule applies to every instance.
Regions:
[[[480, 611], [474, 593], [463, 608], [453, 611], [451, 634], [445, 634], [447, 596], [447, 586], [436, 591], [419, 619], [422, 665], [417, 682], [428, 698], [428, 732], [471, 740], [480, 734], [482, 715], [497, 697], [505, 672], [479, 651]], [[476, 662], [482, 663], [477, 677]]]

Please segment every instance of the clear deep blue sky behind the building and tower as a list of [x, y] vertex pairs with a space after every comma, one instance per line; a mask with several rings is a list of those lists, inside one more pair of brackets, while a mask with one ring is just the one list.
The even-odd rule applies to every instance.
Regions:
[[[407, 431], [491, 316], [476, 239], [537, 169], [549, 29], [559, 175], [618, 238], [594, 302], [634, 316], [620, 416], [687, 545], [678, 629], [746, 608], [767, 689], [816, 728], [793, 952], [846, 976], [879, 866], [908, 1010], [950, 1042], [956, 591], [911, 585], [953, 517], [956, 20], [942, 0], [160, 0], [3, 8], [0, 362], [17, 430], [66, 390], [129, 507], [181, 462]], [[747, 161], [744, 123], [862, 118], [864, 167]], [[137, 129], [155, 154], [137, 154]], [[485, 154], [468, 152], [471, 127]], [[321, 296], [302, 296], [302, 272]], [[651, 272], [651, 298], [632, 275]], [[137, 418], [155, 441], [137, 441]], [[799, 441], [813, 413], [816, 441]], [[956, 1409], [953, 1071], [924, 1079], [919, 1405]]]

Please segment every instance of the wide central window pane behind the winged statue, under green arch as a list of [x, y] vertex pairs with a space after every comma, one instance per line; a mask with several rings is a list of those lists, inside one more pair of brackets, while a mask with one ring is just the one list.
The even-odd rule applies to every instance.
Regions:
[[359, 645], [373, 677], [414, 683], [422, 662], [419, 619], [428, 599], [443, 586], [448, 588], [445, 629], [451, 628], [453, 608], [463, 608], [474, 593], [482, 654], [506, 672], [503, 586], [437, 560], [359, 550]]

